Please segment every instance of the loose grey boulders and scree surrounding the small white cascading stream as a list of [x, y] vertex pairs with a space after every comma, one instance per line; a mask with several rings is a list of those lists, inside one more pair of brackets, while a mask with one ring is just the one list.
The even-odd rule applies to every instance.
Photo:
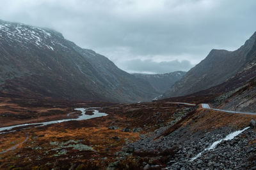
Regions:
[[[191, 132], [189, 125], [186, 125], [163, 138], [156, 139], [165, 129], [169, 128], [162, 127], [156, 134], [129, 144], [125, 150], [133, 154], [159, 153], [158, 155], [147, 155], [149, 161], [143, 163], [144, 169], [156, 166], [159, 168], [166, 167], [166, 169], [256, 169], [255, 127], [255, 121], [251, 122], [249, 129], [241, 132], [234, 139], [221, 141], [216, 148], [205, 151], [195, 160], [192, 159], [198, 153], [209, 148], [212, 143], [224, 139], [237, 129], [221, 127], [212, 131]], [[152, 162], [157, 162], [156, 160], [163, 159], [163, 155], [160, 153], [164, 152], [169, 152], [166, 164], [152, 164]]]

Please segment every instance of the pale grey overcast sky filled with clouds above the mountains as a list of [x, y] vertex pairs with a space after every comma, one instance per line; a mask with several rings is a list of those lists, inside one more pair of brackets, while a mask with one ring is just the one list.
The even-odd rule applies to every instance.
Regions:
[[129, 73], [191, 67], [256, 31], [255, 0], [0, 0], [0, 19], [60, 31]]

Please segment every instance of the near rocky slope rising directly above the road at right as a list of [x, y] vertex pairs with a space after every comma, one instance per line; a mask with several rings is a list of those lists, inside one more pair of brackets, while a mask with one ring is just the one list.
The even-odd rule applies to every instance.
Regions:
[[192, 96], [217, 95], [211, 101], [214, 107], [225, 110], [256, 111], [256, 45], [248, 53], [248, 63], [235, 76], [224, 83], [192, 94]]

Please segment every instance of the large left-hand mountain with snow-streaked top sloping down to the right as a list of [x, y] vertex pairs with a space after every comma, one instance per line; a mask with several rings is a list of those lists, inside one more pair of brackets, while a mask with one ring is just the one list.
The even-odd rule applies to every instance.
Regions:
[[51, 29], [0, 20], [0, 56], [3, 94], [118, 102], [157, 96], [147, 81]]

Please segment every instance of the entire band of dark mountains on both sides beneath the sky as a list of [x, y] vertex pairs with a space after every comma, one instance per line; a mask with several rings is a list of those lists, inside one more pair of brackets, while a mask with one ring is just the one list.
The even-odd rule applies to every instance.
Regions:
[[129, 74], [60, 32], [0, 20], [0, 56], [1, 96], [132, 103], [254, 84], [256, 32], [234, 52], [211, 50], [188, 73]]

